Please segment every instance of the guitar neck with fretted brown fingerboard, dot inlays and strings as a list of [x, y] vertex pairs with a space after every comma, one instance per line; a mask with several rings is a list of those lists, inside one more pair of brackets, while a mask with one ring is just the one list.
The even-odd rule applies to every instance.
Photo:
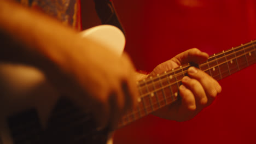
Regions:
[[[216, 53], [197, 67], [214, 79], [221, 80], [237, 71], [256, 63], [256, 40], [242, 44], [232, 49]], [[140, 97], [138, 107], [128, 112], [120, 121], [119, 128], [159, 110], [178, 99], [179, 86], [182, 78], [187, 75], [191, 64], [165, 71], [155, 77], [137, 82]]]

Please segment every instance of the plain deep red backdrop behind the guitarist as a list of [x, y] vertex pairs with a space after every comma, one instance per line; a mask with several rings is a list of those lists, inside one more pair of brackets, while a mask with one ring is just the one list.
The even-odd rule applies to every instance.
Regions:
[[[256, 39], [254, 0], [113, 2], [127, 34], [125, 51], [139, 70], [152, 71], [193, 47], [212, 55]], [[92, 0], [82, 0], [82, 8], [83, 28], [98, 25]], [[222, 93], [190, 121], [149, 115], [117, 130], [114, 143], [256, 143], [255, 73], [256, 64], [219, 81]]]

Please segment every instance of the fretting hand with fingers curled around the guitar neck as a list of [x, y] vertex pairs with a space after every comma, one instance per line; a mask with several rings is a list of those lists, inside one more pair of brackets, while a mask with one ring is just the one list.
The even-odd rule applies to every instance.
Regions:
[[[207, 58], [207, 53], [195, 48], [190, 49], [159, 64], [149, 76], [155, 76], [189, 62], [202, 63]], [[222, 91], [216, 80], [195, 67], [188, 69], [188, 76], [183, 77], [182, 83], [183, 85], [179, 87], [181, 101], [163, 107], [154, 112], [154, 115], [179, 122], [187, 121], [196, 116], [204, 107], [210, 105], [217, 94]]]

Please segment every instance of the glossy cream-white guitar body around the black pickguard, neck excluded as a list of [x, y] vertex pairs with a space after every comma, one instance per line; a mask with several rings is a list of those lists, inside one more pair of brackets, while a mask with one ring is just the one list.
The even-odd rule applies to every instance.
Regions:
[[[118, 55], [124, 50], [124, 34], [114, 26], [97, 26], [80, 34], [86, 39], [98, 41]], [[15, 144], [9, 129], [8, 117], [35, 109], [40, 124], [46, 128], [59, 98], [60, 94], [36, 68], [0, 63], [0, 144]]]

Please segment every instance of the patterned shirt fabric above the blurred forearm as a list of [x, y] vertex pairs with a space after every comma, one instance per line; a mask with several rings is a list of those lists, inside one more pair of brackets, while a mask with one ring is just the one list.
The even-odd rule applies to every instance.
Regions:
[[43, 11], [77, 30], [81, 30], [79, 0], [16, 0], [27, 7]]

